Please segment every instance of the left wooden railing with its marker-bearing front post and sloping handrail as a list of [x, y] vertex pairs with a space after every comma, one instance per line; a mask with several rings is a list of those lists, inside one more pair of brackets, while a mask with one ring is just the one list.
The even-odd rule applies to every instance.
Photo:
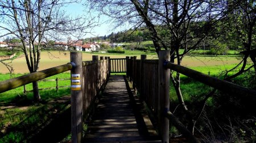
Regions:
[[[109, 57], [93, 55], [82, 62], [82, 53], [71, 52], [71, 63], [0, 82], [0, 93], [71, 70], [72, 142], [81, 142], [82, 118], [87, 116], [110, 75]], [[83, 114], [84, 113], [84, 114]]]

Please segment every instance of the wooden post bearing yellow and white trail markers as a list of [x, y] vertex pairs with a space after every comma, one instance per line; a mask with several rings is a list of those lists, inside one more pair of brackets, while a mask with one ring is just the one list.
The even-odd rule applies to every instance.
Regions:
[[[71, 52], [71, 63], [75, 68], [71, 70], [71, 133], [72, 143], [80, 143], [82, 138], [82, 53]], [[78, 83], [77, 83], [77, 82]]]

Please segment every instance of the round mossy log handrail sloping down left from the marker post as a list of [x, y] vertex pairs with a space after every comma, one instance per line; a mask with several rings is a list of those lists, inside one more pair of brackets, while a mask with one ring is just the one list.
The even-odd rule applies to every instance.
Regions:
[[48, 68], [43, 71], [33, 72], [28, 75], [15, 77], [10, 80], [5, 80], [0, 82], [0, 93], [6, 92], [8, 90], [18, 88], [19, 86], [32, 83], [34, 81], [45, 79], [46, 77], [57, 75], [59, 73], [69, 71], [72, 69], [72, 64], [67, 63], [61, 66]]

